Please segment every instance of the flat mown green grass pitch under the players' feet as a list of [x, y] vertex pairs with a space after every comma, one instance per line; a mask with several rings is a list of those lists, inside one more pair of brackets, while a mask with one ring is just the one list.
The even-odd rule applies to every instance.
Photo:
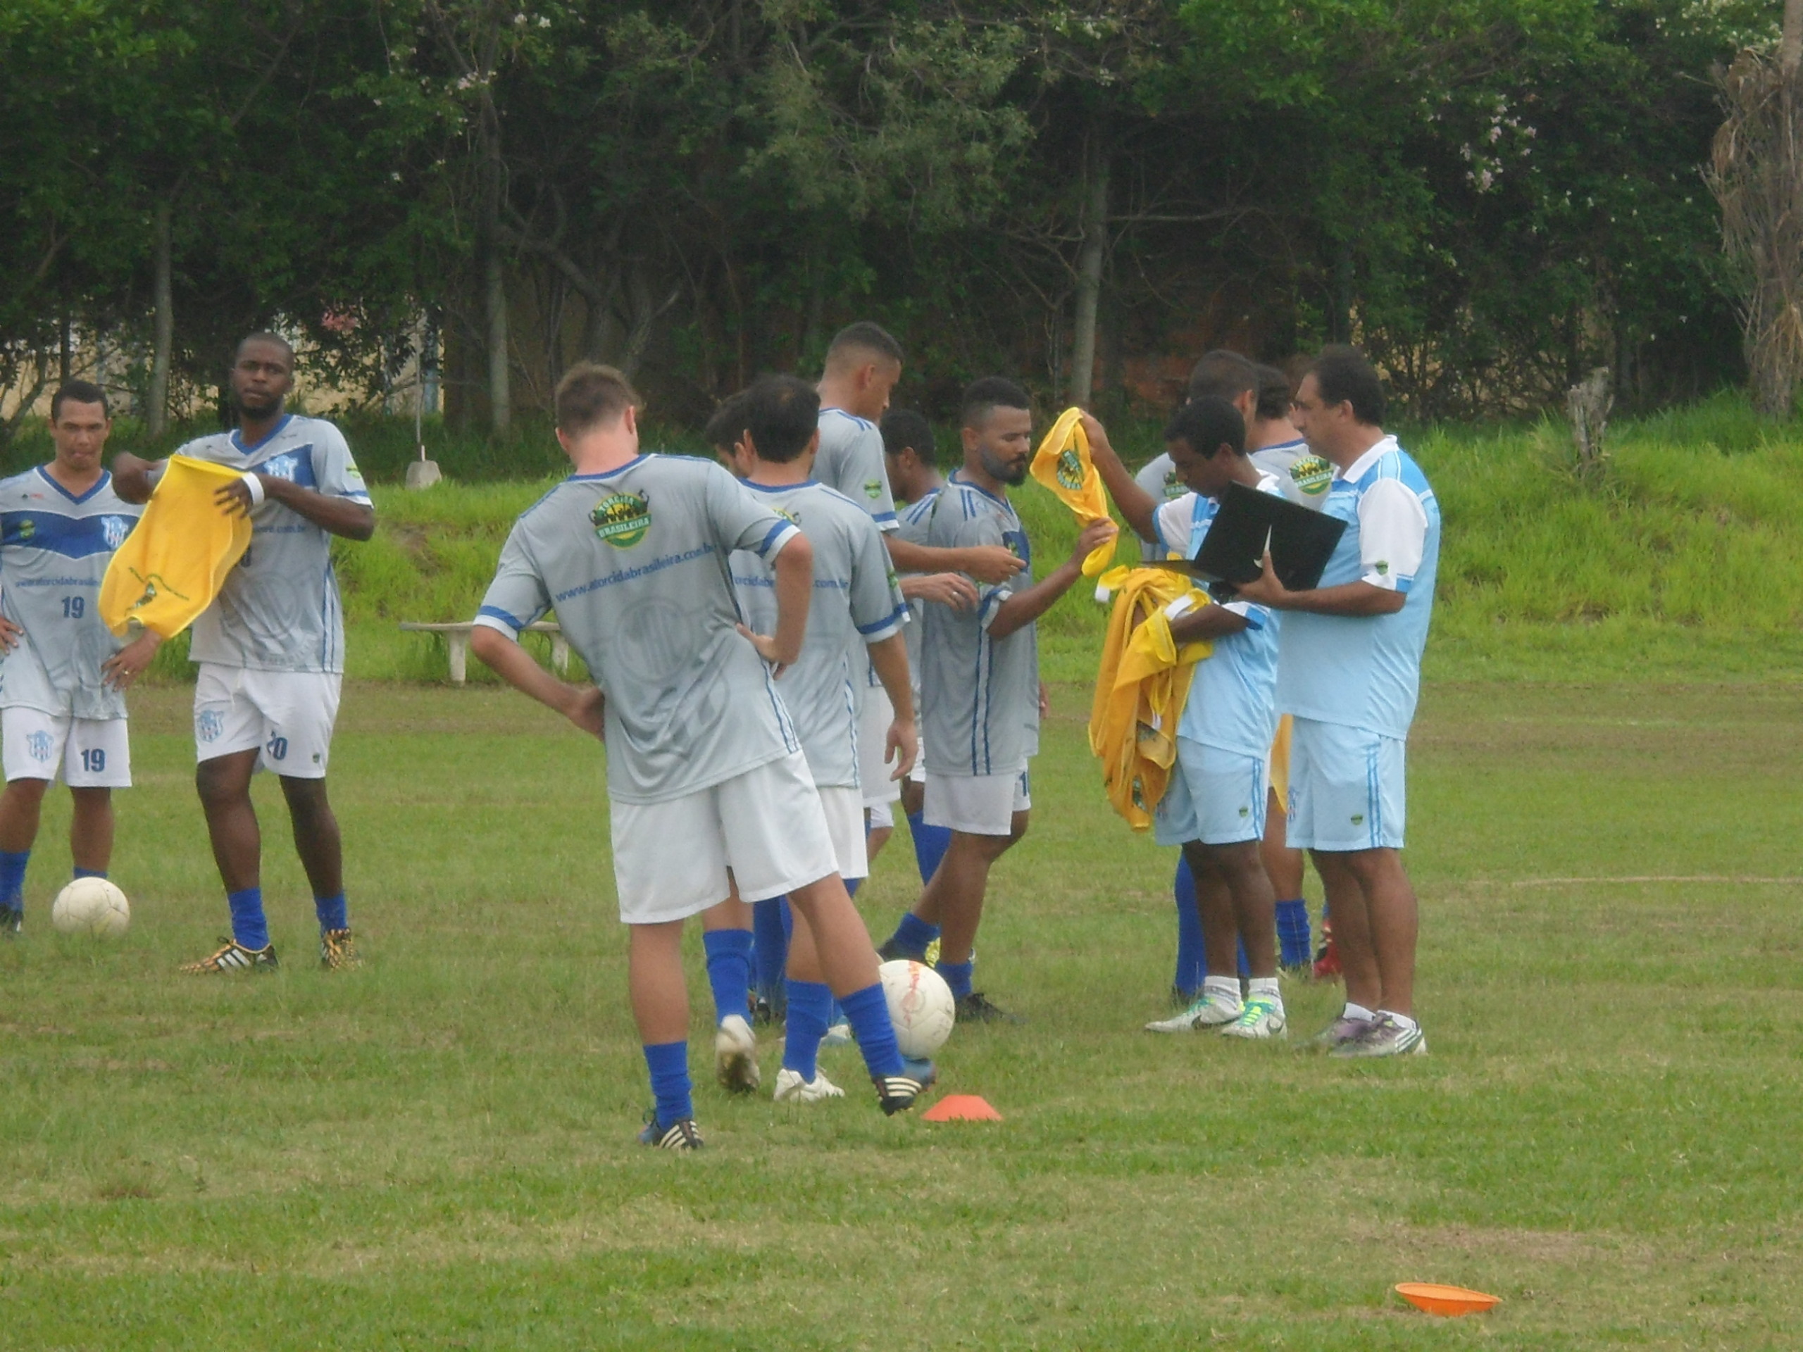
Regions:
[[[840, 1103], [728, 1101], [698, 1009], [689, 1159], [633, 1145], [591, 743], [499, 690], [353, 683], [334, 797], [368, 966], [310, 966], [260, 782], [287, 966], [184, 979], [224, 921], [186, 692], [135, 708], [130, 934], [49, 930], [58, 793], [27, 936], [0, 946], [0, 1347], [1780, 1348], [1803, 1327], [1794, 685], [1430, 685], [1408, 858], [1433, 1053], [1387, 1065], [1136, 1031], [1170, 981], [1172, 860], [1102, 806], [1085, 694], [1060, 687], [979, 945], [979, 986], [1031, 1022], [941, 1056], [1006, 1121], [883, 1119], [849, 1049]], [[911, 872], [898, 838], [873, 927]], [[1336, 1008], [1287, 999], [1302, 1035]], [[1399, 1280], [1504, 1303], [1441, 1321]]]

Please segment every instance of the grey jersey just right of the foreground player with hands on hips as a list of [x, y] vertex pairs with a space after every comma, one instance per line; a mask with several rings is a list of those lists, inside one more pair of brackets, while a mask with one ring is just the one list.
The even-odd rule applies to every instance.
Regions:
[[[889, 550], [869, 514], [824, 483], [746, 483], [779, 516], [801, 526], [813, 548], [813, 602], [801, 660], [777, 690], [820, 788], [858, 788], [858, 692], [867, 662], [858, 653], [889, 638], [907, 618]], [[732, 555], [732, 584], [745, 622], [775, 633], [775, 573], [755, 550]]]

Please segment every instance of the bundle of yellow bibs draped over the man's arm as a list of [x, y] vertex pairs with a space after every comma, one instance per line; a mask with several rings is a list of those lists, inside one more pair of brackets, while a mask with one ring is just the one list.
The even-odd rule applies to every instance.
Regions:
[[1102, 586], [1114, 593], [1109, 635], [1089, 710], [1089, 750], [1102, 759], [1102, 786], [1134, 831], [1152, 826], [1177, 761], [1177, 723], [1190, 698], [1195, 663], [1213, 644], [1177, 644], [1165, 607], [1208, 597], [1168, 568], [1111, 568]]

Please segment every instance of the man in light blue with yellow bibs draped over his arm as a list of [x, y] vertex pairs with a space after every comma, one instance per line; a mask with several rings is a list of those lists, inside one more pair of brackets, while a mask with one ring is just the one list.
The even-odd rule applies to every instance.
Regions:
[[[1172, 461], [1188, 487], [1168, 503], [1132, 481], [1100, 422], [1085, 418], [1084, 425], [1096, 470], [1121, 516], [1168, 553], [1195, 557], [1230, 485], [1282, 492], [1277, 478], [1246, 454], [1246, 424], [1224, 398], [1195, 398], [1165, 427]], [[1213, 644], [1190, 678], [1177, 725], [1177, 764], [1154, 815], [1158, 844], [1181, 845], [1197, 880], [1194, 905], [1206, 966], [1194, 1002], [1147, 1029], [1277, 1037], [1286, 1015], [1277, 981], [1277, 907], [1262, 860], [1268, 759], [1277, 732], [1277, 617], [1244, 602], [1199, 606], [1172, 618], [1170, 635]], [[1244, 943], [1249, 968], [1244, 1002], [1237, 943]]]

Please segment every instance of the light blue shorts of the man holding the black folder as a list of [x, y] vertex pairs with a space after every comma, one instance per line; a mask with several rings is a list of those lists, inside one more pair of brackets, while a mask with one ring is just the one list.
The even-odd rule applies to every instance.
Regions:
[[1399, 737], [1295, 719], [1289, 745], [1293, 849], [1401, 849], [1406, 795]]

